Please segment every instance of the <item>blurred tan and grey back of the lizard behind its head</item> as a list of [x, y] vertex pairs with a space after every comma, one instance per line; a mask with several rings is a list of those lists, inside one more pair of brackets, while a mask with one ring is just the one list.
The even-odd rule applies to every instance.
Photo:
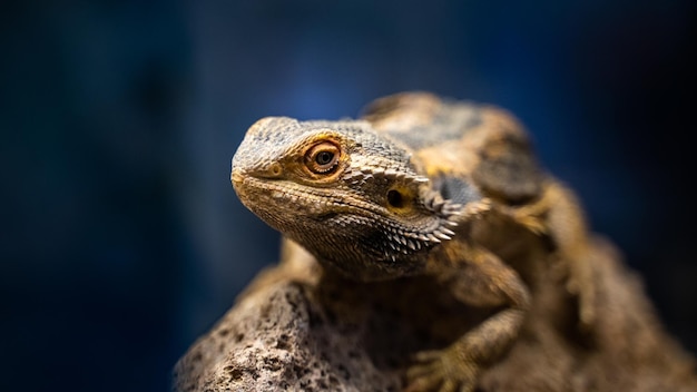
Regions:
[[528, 135], [500, 108], [404, 92], [369, 104], [362, 118], [411, 150], [420, 170], [455, 203], [465, 204], [475, 190], [505, 204], [541, 193], [544, 175]]

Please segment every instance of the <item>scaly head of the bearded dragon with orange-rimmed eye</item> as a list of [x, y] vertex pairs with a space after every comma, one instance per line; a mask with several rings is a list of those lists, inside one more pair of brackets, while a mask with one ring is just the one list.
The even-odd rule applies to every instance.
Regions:
[[460, 206], [431, 188], [406, 148], [366, 121], [263, 118], [232, 166], [247, 208], [355, 280], [418, 273], [429, 249], [454, 235]]

